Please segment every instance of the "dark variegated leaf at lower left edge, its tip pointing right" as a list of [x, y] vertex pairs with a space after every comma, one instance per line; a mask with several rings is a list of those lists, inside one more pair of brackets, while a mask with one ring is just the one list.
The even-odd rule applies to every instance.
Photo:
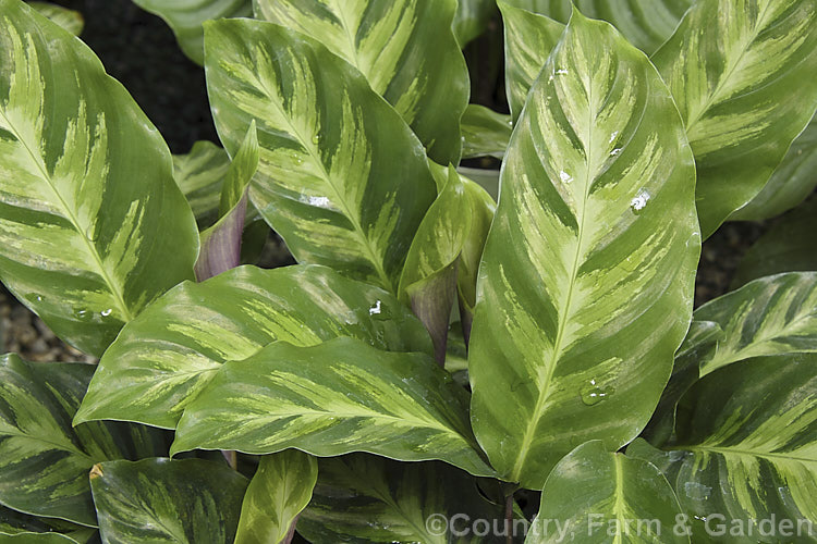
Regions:
[[[88, 470], [98, 461], [161, 454], [161, 433], [138, 425], [72, 429], [94, 366], [0, 358], [0, 504], [96, 527]], [[1, 527], [1, 526], [0, 526]]]

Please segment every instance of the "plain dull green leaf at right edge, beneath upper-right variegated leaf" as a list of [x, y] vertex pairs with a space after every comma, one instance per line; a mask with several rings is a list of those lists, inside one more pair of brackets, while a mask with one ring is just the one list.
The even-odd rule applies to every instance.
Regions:
[[729, 219], [759, 221], [780, 215], [808, 198], [815, 187], [817, 187], [817, 115], [794, 140], [783, 162], [775, 170], [771, 180], [763, 190]]

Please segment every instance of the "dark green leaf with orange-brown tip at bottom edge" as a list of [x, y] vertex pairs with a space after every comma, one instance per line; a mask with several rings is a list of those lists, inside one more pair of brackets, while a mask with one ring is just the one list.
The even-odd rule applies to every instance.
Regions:
[[224, 544], [247, 479], [202, 459], [144, 459], [95, 466], [90, 486], [107, 544]]

